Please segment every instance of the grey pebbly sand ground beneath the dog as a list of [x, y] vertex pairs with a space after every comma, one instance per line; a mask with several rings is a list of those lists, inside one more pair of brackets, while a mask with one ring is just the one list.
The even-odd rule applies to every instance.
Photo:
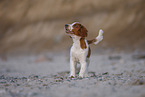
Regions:
[[145, 97], [145, 56], [91, 56], [88, 78], [69, 79], [69, 54], [0, 58], [0, 97]]

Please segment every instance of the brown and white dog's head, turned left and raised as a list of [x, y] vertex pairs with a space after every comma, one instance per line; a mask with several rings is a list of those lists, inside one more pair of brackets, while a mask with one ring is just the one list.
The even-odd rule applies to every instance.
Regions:
[[87, 37], [87, 29], [79, 22], [74, 22], [72, 24], [65, 24], [65, 32], [70, 36], [79, 36], [82, 38]]

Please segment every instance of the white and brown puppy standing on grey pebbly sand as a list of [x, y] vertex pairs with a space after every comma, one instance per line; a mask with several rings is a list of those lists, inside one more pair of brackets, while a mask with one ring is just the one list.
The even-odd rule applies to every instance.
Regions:
[[79, 22], [65, 24], [65, 32], [73, 39], [73, 45], [70, 50], [70, 76], [75, 77], [76, 64], [81, 64], [79, 77], [87, 77], [89, 57], [91, 50], [89, 44], [98, 44], [103, 39], [103, 30], [99, 31], [99, 35], [92, 40], [86, 40], [87, 29]]

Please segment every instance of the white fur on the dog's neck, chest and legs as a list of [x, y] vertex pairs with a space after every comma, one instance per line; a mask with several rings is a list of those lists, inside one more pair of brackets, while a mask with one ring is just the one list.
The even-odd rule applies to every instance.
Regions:
[[81, 37], [73, 35], [72, 38], [73, 38], [73, 45], [70, 50], [70, 77], [71, 76], [75, 77], [76, 65], [79, 62], [81, 64], [79, 77], [83, 78], [87, 76], [87, 72], [88, 72], [89, 59], [87, 59], [87, 55], [88, 55], [89, 45], [87, 43], [87, 40], [85, 40], [87, 48], [82, 49], [80, 47]]

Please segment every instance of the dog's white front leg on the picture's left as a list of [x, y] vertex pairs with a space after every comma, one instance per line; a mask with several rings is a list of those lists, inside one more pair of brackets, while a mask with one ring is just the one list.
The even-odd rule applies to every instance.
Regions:
[[75, 68], [76, 67], [76, 61], [74, 60], [74, 58], [70, 58], [70, 78], [74, 78], [75, 77]]

